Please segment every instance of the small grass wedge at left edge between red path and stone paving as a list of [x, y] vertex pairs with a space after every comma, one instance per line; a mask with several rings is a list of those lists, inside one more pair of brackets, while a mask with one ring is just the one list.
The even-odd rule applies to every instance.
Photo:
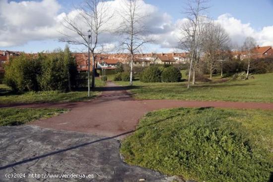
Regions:
[[58, 108], [0, 108], [0, 126], [21, 125], [37, 119], [46, 119], [64, 112]]

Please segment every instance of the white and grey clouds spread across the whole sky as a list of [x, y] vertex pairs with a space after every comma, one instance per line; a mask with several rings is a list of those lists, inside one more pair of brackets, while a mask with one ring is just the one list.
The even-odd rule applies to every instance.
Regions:
[[[115, 29], [119, 26], [122, 18], [117, 12], [122, 11], [123, 1], [107, 1], [110, 7], [107, 12], [114, 13], [114, 17], [105, 29], [109, 27]], [[144, 23], [148, 34], [154, 38], [153, 43], [158, 48], [175, 48], [179, 40], [179, 26], [185, 19], [174, 22], [168, 13], [161, 12], [155, 5], [147, 4], [144, 0], [140, 0], [139, 3], [141, 13], [148, 14]], [[61, 22], [66, 17], [80, 22], [76, 19], [78, 9], [65, 13], [60, 12], [61, 8], [58, 0], [20, 2], [0, 0], [0, 47], [19, 46], [33, 40], [58, 40], [63, 36], [60, 32], [77, 37], [76, 34], [67, 31]], [[215, 21], [226, 29], [232, 41], [238, 45], [241, 45], [247, 36], [253, 36], [259, 45], [273, 45], [273, 26], [257, 31], [250, 23], [242, 23], [230, 14], [223, 14]], [[82, 25], [82, 28], [88, 29], [85, 25]], [[105, 32], [101, 34], [100, 43], [105, 48], [113, 49], [118, 39], [118, 36]]]

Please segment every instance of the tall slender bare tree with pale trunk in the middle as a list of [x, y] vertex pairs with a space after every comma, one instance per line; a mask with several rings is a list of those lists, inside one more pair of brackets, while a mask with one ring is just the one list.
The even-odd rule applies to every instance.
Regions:
[[144, 44], [151, 42], [147, 36], [144, 20], [147, 14], [141, 13], [141, 0], [124, 0], [120, 16], [122, 23], [117, 33], [122, 37], [121, 47], [131, 55], [130, 62], [130, 85], [133, 86], [133, 67], [135, 54], [140, 52]]

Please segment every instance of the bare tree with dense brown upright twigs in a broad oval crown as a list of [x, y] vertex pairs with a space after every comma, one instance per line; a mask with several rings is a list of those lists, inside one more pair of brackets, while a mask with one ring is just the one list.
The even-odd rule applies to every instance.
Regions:
[[224, 28], [213, 21], [206, 23], [203, 36], [205, 61], [209, 69], [211, 80], [216, 64], [221, 63], [223, 52], [228, 50], [230, 38]]

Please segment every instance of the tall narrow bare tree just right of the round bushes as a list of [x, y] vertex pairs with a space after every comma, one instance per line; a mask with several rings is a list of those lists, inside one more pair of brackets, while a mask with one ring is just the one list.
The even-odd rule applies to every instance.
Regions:
[[193, 83], [195, 84], [196, 60], [201, 54], [200, 45], [203, 32], [203, 13], [208, 8], [205, 5], [206, 2], [207, 0], [189, 0], [184, 12], [187, 14], [187, 21], [181, 27], [182, 39], [180, 43], [182, 49], [186, 49], [191, 53], [188, 89], [190, 88], [192, 70], [194, 73]]

